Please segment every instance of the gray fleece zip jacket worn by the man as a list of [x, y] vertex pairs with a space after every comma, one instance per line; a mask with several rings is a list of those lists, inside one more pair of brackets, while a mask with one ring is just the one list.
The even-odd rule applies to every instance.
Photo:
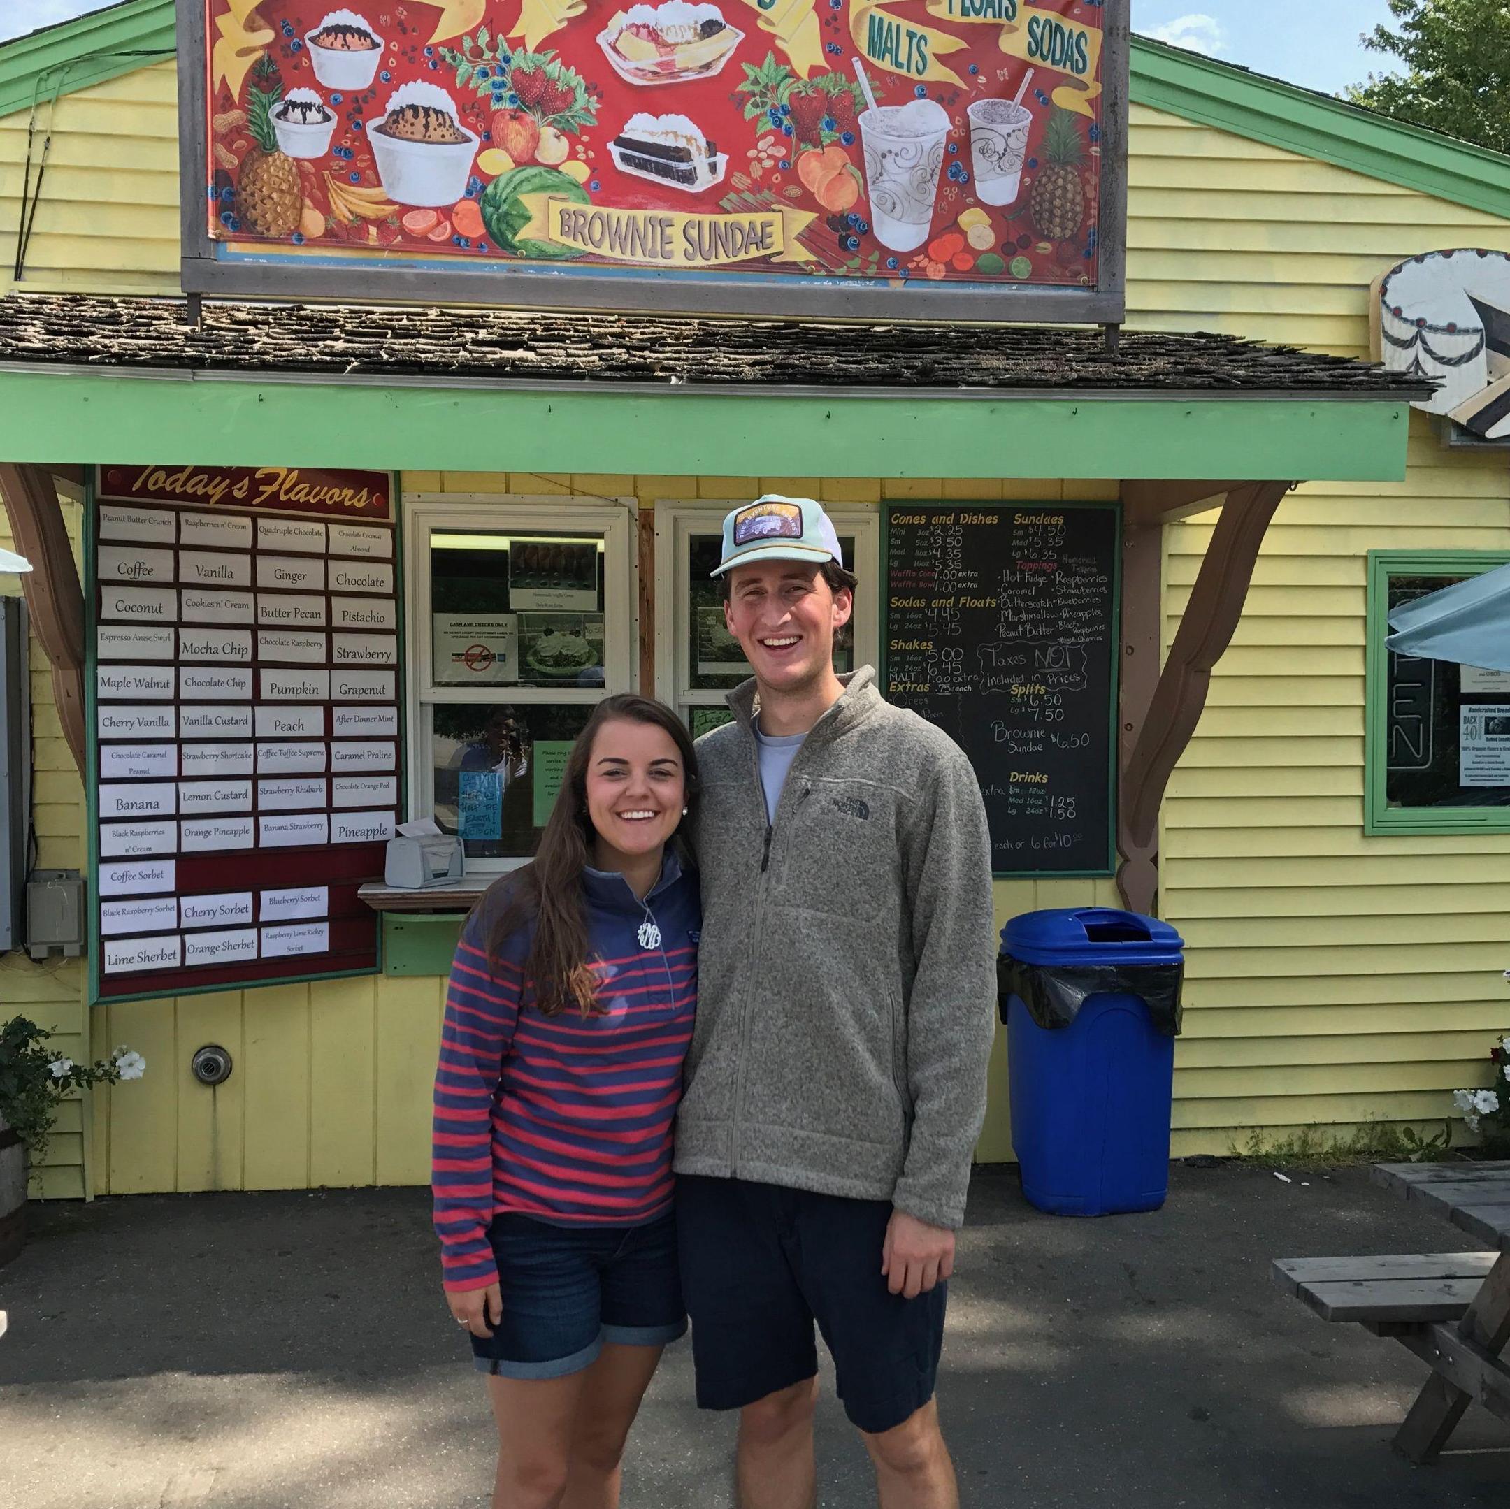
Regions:
[[698, 1020], [676, 1171], [965, 1218], [995, 1031], [991, 842], [959, 747], [870, 667], [767, 825], [750, 730], [698, 739]]

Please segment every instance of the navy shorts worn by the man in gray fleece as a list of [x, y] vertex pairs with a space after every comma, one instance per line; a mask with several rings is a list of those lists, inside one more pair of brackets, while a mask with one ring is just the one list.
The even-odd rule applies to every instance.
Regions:
[[948, 1286], [917, 1299], [886, 1289], [889, 1219], [886, 1200], [680, 1176], [698, 1403], [738, 1409], [815, 1376], [817, 1322], [861, 1431], [879, 1435], [921, 1409], [933, 1397]]

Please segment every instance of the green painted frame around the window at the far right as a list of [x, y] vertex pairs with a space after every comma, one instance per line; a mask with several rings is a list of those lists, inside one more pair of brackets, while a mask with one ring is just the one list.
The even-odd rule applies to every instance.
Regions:
[[1510, 551], [1370, 551], [1368, 658], [1364, 679], [1364, 836], [1510, 833], [1510, 807], [1392, 807], [1385, 780], [1385, 649], [1389, 578], [1474, 576], [1510, 561]]

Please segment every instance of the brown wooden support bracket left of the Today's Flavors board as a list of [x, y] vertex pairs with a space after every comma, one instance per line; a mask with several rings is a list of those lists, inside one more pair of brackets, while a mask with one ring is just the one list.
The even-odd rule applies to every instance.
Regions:
[[57, 506], [57, 490], [41, 466], [0, 463], [0, 499], [11, 516], [17, 549], [32, 563], [21, 590], [32, 632], [53, 668], [53, 699], [63, 738], [85, 774], [85, 595]]

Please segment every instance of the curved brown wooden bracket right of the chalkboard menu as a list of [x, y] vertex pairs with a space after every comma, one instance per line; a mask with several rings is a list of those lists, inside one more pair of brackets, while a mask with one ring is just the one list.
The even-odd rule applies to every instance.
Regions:
[[[1228, 492], [1216, 533], [1196, 575], [1190, 602], [1175, 632], [1175, 643], [1169, 649], [1169, 659], [1152, 694], [1148, 696], [1146, 709], [1131, 706], [1129, 697], [1123, 696], [1120, 744], [1125, 753], [1117, 803], [1117, 848], [1122, 865], [1117, 869], [1117, 890], [1123, 904], [1132, 911], [1151, 913], [1157, 905], [1158, 809], [1164, 800], [1164, 789], [1200, 721], [1206, 690], [1211, 685], [1211, 668], [1232, 643], [1232, 634], [1243, 616], [1264, 531], [1293, 486], [1294, 483], [1287, 481], [1258, 481], [1234, 486]], [[1139, 542], [1137, 531], [1142, 530], [1148, 530], [1148, 534]], [[1129, 530], [1131, 543], [1125, 542], [1123, 549], [1140, 548], [1146, 560], [1152, 548], [1149, 536], [1157, 537], [1157, 530], [1134, 525]], [[1128, 599], [1131, 596], [1126, 593]], [[1148, 596], [1146, 584], [1140, 596]], [[1154, 601], [1158, 602], [1157, 589]], [[1145, 632], [1142, 638], [1146, 637]], [[1131, 670], [1126, 659], [1128, 646], [1132, 643], [1126, 629], [1123, 641], [1126, 673]], [[1157, 640], [1154, 643], [1157, 644]], [[1142, 672], [1140, 676], [1139, 685], [1146, 687], [1148, 673]]]

